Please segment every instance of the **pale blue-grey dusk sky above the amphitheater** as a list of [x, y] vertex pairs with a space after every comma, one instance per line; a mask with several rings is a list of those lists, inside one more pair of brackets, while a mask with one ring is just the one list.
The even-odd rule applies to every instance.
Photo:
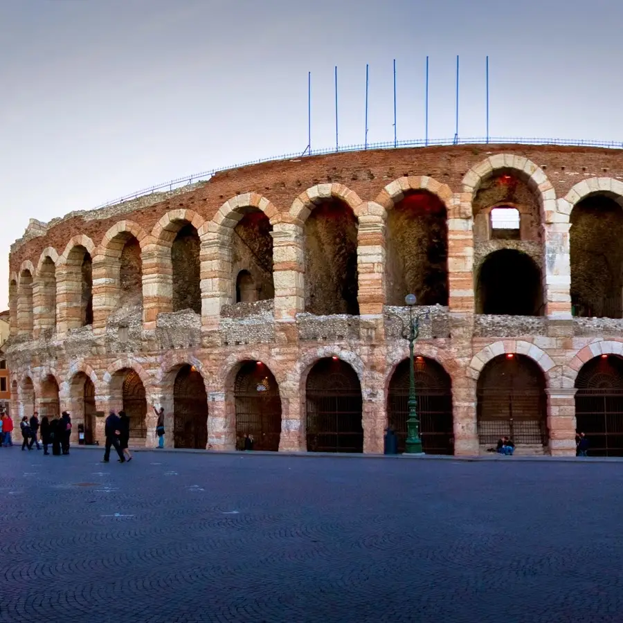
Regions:
[[[48, 221], [185, 174], [307, 145], [431, 138], [623, 141], [620, 0], [0, 0], [0, 307], [9, 245]], [[95, 241], [96, 243], [98, 241]], [[62, 252], [62, 249], [58, 249]]]

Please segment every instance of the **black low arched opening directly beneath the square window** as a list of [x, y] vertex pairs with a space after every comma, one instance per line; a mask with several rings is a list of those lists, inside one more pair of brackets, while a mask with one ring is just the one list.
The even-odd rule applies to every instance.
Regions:
[[541, 271], [530, 255], [500, 249], [487, 256], [478, 272], [478, 314], [541, 316]]

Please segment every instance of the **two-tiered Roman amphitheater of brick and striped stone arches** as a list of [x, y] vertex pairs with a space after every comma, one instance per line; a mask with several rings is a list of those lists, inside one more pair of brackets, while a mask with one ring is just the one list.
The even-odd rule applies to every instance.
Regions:
[[623, 454], [623, 150], [451, 145], [224, 170], [10, 253], [12, 413], [102, 442], [404, 447], [406, 294], [427, 453]]

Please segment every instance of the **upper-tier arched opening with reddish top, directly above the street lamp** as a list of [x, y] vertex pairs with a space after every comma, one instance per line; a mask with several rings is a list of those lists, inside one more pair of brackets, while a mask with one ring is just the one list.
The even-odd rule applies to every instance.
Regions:
[[430, 192], [410, 192], [387, 217], [388, 305], [448, 305], [446, 206]]

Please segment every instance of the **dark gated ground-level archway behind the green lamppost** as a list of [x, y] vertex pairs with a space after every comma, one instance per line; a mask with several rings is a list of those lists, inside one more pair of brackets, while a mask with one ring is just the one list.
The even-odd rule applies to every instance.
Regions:
[[[409, 365], [405, 359], [397, 366], [387, 396], [388, 424], [398, 437], [398, 451], [404, 452], [409, 415]], [[434, 359], [417, 356], [415, 397], [420, 437], [426, 454], [453, 454], [452, 381]]]

